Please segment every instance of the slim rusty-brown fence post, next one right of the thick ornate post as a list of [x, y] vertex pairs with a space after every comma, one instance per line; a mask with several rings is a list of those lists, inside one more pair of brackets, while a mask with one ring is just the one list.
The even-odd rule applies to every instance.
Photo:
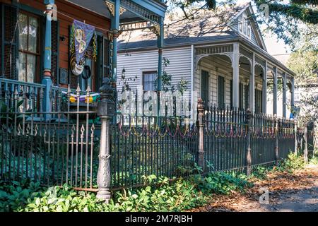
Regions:
[[199, 151], [198, 165], [205, 172], [204, 166], [204, 102], [200, 98], [198, 100], [198, 121], [199, 121]]

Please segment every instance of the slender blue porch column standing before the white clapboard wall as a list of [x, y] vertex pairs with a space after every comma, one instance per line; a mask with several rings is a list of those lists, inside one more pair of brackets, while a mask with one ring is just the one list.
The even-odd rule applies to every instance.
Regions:
[[160, 18], [160, 30], [158, 32], [158, 79], [157, 79], [157, 88], [158, 88], [158, 115], [160, 114], [160, 91], [162, 89], [162, 79], [163, 79], [163, 42], [164, 42], [164, 22], [163, 18]]

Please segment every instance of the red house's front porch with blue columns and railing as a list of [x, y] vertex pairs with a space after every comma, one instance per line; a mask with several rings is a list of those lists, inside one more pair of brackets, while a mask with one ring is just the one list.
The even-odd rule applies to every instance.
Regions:
[[[113, 87], [117, 80], [117, 37], [124, 31], [148, 28], [158, 35], [158, 88], [161, 87], [163, 18], [166, 6], [163, 1], [135, 0], [21, 0], [17, 3], [0, 0], [1, 26], [6, 35], [1, 39], [0, 100], [13, 107], [13, 96], [31, 102], [42, 98], [37, 112], [54, 112], [59, 105], [59, 93], [68, 92], [86, 95], [87, 90], [97, 93], [104, 78], [110, 78]], [[43, 15], [43, 11], [45, 14]], [[25, 16], [28, 15], [28, 16]], [[34, 37], [35, 63], [29, 63], [23, 54], [30, 54], [28, 42], [24, 46], [23, 21], [35, 18], [37, 25], [27, 24], [28, 30], [36, 30]], [[85, 65], [90, 78], [76, 75], [72, 70], [71, 25], [74, 20], [92, 25], [96, 40], [90, 41], [85, 55]], [[30, 29], [29, 29], [30, 27]], [[34, 28], [33, 28], [34, 27]], [[32, 28], [32, 29], [31, 29]], [[25, 29], [24, 29], [25, 31]], [[26, 34], [27, 36], [30, 34]], [[97, 55], [94, 56], [94, 49]], [[33, 57], [28, 56], [28, 57]], [[95, 60], [94, 60], [95, 57]], [[97, 59], [96, 59], [97, 58]], [[31, 58], [30, 58], [31, 59]], [[24, 67], [23, 67], [24, 66]], [[53, 101], [53, 102], [52, 102]], [[53, 106], [53, 107], [52, 107]]]

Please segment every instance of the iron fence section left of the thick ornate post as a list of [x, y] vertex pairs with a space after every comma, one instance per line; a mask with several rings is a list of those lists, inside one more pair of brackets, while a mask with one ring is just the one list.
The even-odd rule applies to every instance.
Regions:
[[52, 88], [52, 111], [43, 112], [42, 92], [37, 96], [29, 91], [15, 86], [11, 98], [1, 98], [1, 179], [97, 189], [99, 124], [93, 94], [87, 92], [81, 101], [78, 90], [72, 101], [71, 90]]

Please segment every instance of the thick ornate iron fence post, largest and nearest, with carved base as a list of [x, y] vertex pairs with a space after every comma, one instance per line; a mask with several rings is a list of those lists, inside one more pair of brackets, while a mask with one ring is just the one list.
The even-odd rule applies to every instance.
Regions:
[[114, 116], [114, 89], [110, 85], [110, 79], [104, 78], [100, 88], [101, 100], [98, 102], [98, 116], [101, 120], [100, 131], [100, 155], [98, 166], [98, 194], [97, 198], [110, 201], [110, 119]]

